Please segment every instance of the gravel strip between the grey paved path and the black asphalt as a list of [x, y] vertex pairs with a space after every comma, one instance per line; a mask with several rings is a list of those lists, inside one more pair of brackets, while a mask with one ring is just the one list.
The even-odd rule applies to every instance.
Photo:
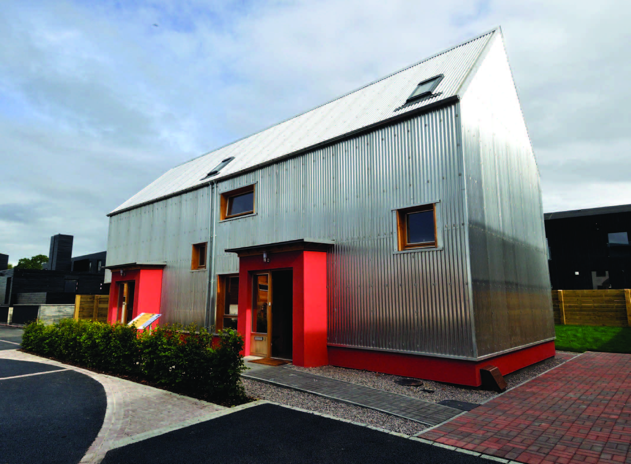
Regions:
[[289, 406], [308, 409], [311, 411], [330, 414], [342, 419], [362, 422], [369, 426], [381, 427], [392, 432], [404, 433], [407, 435], [418, 434], [427, 428], [414, 420], [401, 419], [394, 415], [385, 414], [373, 409], [351, 406], [346, 403], [318, 397], [311, 393], [282, 388], [280, 386], [269, 385], [268, 383], [257, 382], [256, 380], [242, 379], [245, 393], [249, 397], [269, 400]]

